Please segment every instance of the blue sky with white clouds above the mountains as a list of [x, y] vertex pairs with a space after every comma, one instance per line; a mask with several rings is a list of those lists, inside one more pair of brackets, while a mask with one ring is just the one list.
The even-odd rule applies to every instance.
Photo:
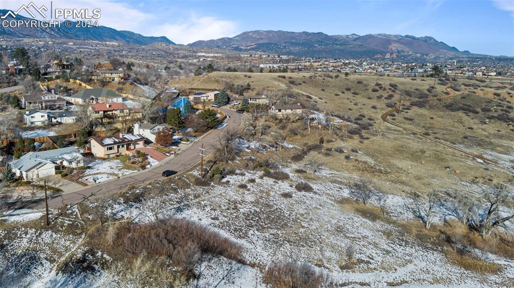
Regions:
[[[1, 3], [20, 6], [19, 0]], [[459, 50], [514, 56], [514, 0], [58, 0], [53, 6], [100, 8], [100, 25], [179, 44], [249, 30], [388, 33], [428, 35]]]

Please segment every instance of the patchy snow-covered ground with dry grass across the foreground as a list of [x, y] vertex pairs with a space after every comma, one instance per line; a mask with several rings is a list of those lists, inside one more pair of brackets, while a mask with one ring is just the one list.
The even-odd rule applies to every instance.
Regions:
[[[262, 144], [240, 143], [242, 149], [254, 149], [256, 146]], [[97, 161], [96, 168], [90, 170], [119, 172], [120, 167], [116, 165], [121, 165], [121, 162], [112, 164], [113, 161]], [[210, 187], [185, 188], [170, 182], [154, 182], [148, 189], [156, 186], [169, 191], [161, 198], [167, 207], [161, 217], [173, 215], [217, 229], [242, 243], [246, 248], [245, 258], [261, 268], [278, 260], [317, 263], [340, 284], [360, 282], [371, 287], [386, 287], [389, 283], [403, 281], [406, 284], [400, 287], [404, 288], [504, 287], [508, 278], [514, 277], [514, 261], [511, 259], [489, 255], [489, 261], [502, 265], [503, 271], [499, 274], [483, 275], [466, 271], [452, 264], [439, 248], [412, 237], [395, 224], [364, 217], [346, 207], [343, 203], [349, 194], [344, 183], [352, 175], [321, 169], [317, 176], [311, 178], [296, 174], [294, 171], [297, 168], [300, 168], [297, 164], [283, 167], [283, 171], [291, 177], [286, 181], [261, 178], [261, 172], [238, 170], [227, 176], [223, 180], [225, 183]], [[199, 171], [193, 170], [191, 173], [197, 175]], [[188, 181], [186, 178], [183, 180]], [[313, 191], [297, 191], [295, 185], [302, 181], [308, 181]], [[237, 188], [243, 183], [247, 184], [247, 189]], [[415, 220], [405, 209], [407, 201], [401, 195], [387, 195], [385, 202], [389, 217], [395, 221]], [[95, 205], [94, 202], [89, 203]], [[111, 201], [108, 212], [113, 221], [132, 218], [136, 223], [144, 223], [152, 218], [152, 207], [151, 201], [123, 203], [118, 199]], [[37, 234], [35, 230], [25, 228], [17, 229], [15, 233], [18, 235], [16, 237], [20, 237], [16, 239], [20, 244], [9, 251], [33, 248], [35, 239], [38, 239], [35, 235], [44, 237], [42, 245], [48, 245], [45, 249], [50, 251], [58, 247], [71, 253], [75, 247], [80, 247], [73, 252], [75, 256], [86, 249], [94, 251], [94, 247], [78, 245], [81, 235], [70, 236], [59, 232], [45, 235], [50, 232]], [[352, 269], [345, 270], [340, 267], [346, 261], [348, 246], [354, 247], [356, 262]], [[102, 286], [102, 281], [114, 276], [109, 276], [98, 266], [92, 274], [56, 275], [53, 270], [55, 263], [60, 261], [58, 257], [47, 252], [40, 252], [38, 257], [41, 259], [31, 263], [32, 270], [28, 274], [34, 280], [31, 287], [56, 283], [61, 283], [62, 287]], [[48, 271], [51, 273], [46, 273]], [[190, 287], [266, 287], [259, 268], [219, 256], [206, 257], [198, 266], [197, 273], [201, 276]], [[80, 279], [80, 285], [77, 279]], [[361, 287], [358, 284], [350, 286]]]

